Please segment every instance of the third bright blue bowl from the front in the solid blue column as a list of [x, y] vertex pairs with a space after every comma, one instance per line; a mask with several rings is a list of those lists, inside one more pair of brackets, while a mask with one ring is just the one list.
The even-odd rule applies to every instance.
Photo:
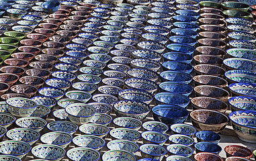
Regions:
[[159, 88], [162, 91], [166, 91], [170, 93], [178, 93], [185, 96], [189, 96], [193, 91], [193, 88], [190, 85], [187, 85], [185, 83], [175, 83], [175, 82], [160, 83]]

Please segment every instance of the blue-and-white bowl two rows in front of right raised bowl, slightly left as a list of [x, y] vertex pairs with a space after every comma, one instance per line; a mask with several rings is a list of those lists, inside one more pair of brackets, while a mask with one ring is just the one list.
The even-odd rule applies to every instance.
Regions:
[[41, 136], [40, 140], [43, 144], [53, 144], [62, 148], [66, 148], [73, 140], [73, 136], [70, 133], [55, 131], [45, 133]]

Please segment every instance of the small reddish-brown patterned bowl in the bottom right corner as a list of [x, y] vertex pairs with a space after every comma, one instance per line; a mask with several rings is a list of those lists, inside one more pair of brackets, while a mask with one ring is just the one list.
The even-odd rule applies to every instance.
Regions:
[[229, 145], [224, 148], [226, 152], [226, 157], [230, 156], [239, 156], [241, 158], [251, 158], [253, 156], [253, 152], [249, 150], [248, 148], [245, 148], [244, 146], [238, 146], [238, 145]]

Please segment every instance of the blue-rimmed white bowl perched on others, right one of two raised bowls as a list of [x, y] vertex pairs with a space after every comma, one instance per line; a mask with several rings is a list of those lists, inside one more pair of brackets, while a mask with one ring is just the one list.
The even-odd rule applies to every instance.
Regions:
[[85, 124], [91, 121], [95, 115], [95, 108], [84, 103], [75, 103], [68, 105], [65, 108], [66, 113], [69, 115], [69, 120], [76, 124]]

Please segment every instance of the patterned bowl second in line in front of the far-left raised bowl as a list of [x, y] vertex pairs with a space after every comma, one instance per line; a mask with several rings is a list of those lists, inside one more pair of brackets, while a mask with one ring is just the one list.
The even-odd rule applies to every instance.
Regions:
[[40, 133], [34, 129], [15, 128], [10, 129], [6, 136], [10, 140], [22, 141], [33, 145], [40, 138]]

